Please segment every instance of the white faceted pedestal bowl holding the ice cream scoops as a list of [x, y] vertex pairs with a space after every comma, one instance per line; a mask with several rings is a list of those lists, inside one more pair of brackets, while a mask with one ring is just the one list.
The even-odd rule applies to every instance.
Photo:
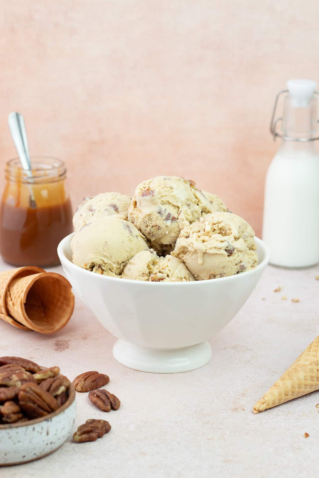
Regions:
[[67, 279], [119, 339], [113, 348], [115, 359], [145, 372], [185, 372], [205, 365], [211, 358], [207, 340], [239, 312], [269, 261], [268, 247], [255, 238], [259, 262], [251, 271], [210, 281], [132, 281], [73, 264], [72, 236], [58, 246]]

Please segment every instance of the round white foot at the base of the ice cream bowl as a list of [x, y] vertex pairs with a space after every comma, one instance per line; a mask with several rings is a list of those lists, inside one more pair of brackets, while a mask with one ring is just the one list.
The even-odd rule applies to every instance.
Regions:
[[114, 358], [134, 370], [153, 373], [176, 373], [198, 369], [211, 359], [208, 342], [181, 348], [144, 348], [125, 340], [117, 340], [113, 347]]

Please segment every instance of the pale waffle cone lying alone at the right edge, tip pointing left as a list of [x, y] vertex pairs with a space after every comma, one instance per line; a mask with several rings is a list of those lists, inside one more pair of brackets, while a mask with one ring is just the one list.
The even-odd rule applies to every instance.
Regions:
[[319, 336], [253, 407], [253, 413], [319, 390]]

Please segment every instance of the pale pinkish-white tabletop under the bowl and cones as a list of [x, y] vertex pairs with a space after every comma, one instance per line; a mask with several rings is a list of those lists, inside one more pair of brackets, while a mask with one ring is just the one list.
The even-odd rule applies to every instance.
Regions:
[[[185, 373], [120, 365], [112, 356], [115, 337], [79, 299], [70, 322], [53, 335], [0, 320], [0, 355], [58, 365], [71, 380], [87, 370], [107, 373], [105, 388], [121, 400], [118, 411], [105, 413], [87, 393], [77, 393], [74, 431], [96, 418], [110, 422], [110, 433], [94, 443], [69, 439], [42, 460], [0, 468], [0, 477], [317, 478], [319, 392], [253, 414], [257, 400], [318, 335], [317, 274], [319, 266], [268, 266], [239, 314], [209, 341], [210, 362]], [[278, 286], [283, 289], [275, 293]]]

